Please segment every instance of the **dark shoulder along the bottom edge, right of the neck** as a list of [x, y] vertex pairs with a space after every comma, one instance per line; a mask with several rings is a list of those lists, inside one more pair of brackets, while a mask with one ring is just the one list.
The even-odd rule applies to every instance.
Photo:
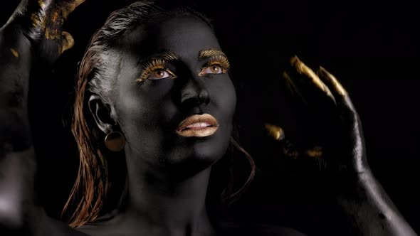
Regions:
[[241, 236], [305, 236], [298, 230], [280, 225], [224, 223], [223, 235]]

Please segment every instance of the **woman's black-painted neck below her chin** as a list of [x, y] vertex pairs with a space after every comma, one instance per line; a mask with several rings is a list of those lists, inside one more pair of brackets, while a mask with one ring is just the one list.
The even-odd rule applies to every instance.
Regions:
[[127, 222], [149, 235], [213, 234], [206, 212], [211, 167], [174, 180], [173, 176], [151, 171], [147, 165], [140, 166], [127, 163], [129, 191], [123, 212]]

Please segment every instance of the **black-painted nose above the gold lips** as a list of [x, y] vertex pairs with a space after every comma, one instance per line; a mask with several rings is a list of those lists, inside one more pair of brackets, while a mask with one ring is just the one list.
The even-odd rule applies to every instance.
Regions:
[[203, 78], [191, 78], [186, 81], [181, 92], [181, 103], [186, 107], [209, 104], [210, 95]]

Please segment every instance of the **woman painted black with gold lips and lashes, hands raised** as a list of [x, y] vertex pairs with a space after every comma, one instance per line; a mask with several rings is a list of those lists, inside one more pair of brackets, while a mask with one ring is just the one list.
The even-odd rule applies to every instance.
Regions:
[[[206, 208], [211, 173], [217, 176], [217, 168], [226, 165], [230, 143], [241, 149], [231, 139], [236, 93], [229, 59], [204, 16], [147, 1], [115, 11], [85, 52], [72, 126], [80, 151], [68, 202], [76, 206], [74, 228], [46, 216], [33, 189], [29, 72], [34, 65], [46, 68], [71, 48], [73, 38], [61, 26], [81, 2], [22, 1], [1, 28], [4, 230], [16, 235], [301, 235], [283, 227], [238, 227], [211, 218]], [[326, 161], [338, 170], [330, 188], [355, 221], [355, 233], [415, 235], [369, 171], [362, 129], [347, 92], [322, 68], [315, 74], [295, 57], [290, 65], [283, 75], [290, 89], [324, 109], [338, 127], [339, 141], [325, 146], [335, 158]], [[107, 161], [115, 156], [126, 162], [126, 191], [116, 210], [103, 215], [112, 190]], [[236, 195], [225, 192], [227, 198]]]

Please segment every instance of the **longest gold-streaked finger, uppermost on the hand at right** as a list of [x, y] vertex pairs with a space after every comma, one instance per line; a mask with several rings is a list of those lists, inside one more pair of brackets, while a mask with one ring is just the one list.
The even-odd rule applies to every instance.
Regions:
[[292, 69], [288, 71], [288, 75], [293, 79], [295, 85], [298, 85], [301, 91], [305, 91], [305, 95], [327, 97], [335, 103], [335, 97], [332, 95], [327, 85], [320, 80], [313, 70], [299, 60], [297, 56], [290, 59], [290, 65], [292, 66]]

